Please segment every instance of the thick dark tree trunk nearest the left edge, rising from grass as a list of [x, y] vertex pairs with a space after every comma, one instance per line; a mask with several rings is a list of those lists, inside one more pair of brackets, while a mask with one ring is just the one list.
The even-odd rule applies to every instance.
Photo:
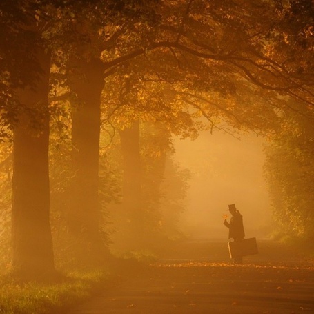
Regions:
[[37, 51], [43, 74], [35, 89], [20, 90], [14, 128], [12, 268], [37, 277], [55, 272], [50, 230], [48, 90], [50, 55]]

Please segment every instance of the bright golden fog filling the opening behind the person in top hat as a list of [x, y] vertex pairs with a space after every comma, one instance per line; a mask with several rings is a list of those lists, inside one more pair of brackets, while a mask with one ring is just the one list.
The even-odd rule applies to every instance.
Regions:
[[265, 139], [204, 132], [194, 141], [176, 138], [174, 144], [175, 160], [192, 175], [181, 217], [188, 237], [227, 239], [222, 215], [228, 214], [228, 204], [242, 213], [246, 237], [270, 237], [273, 222], [262, 168]]

